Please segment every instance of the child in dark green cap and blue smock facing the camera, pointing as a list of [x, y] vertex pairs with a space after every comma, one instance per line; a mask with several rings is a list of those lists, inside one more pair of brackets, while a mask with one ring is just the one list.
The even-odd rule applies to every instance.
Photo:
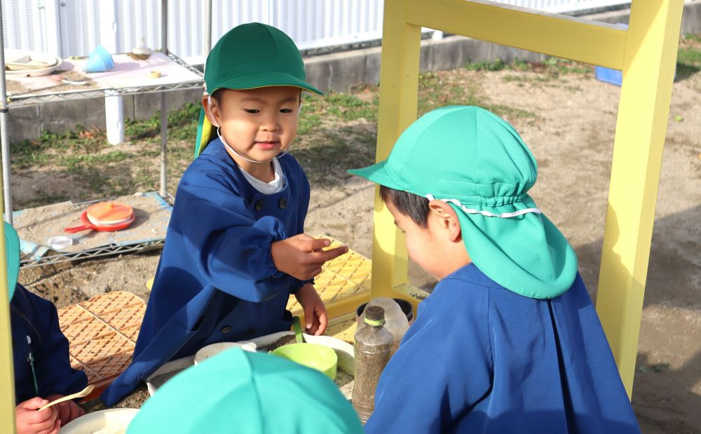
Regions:
[[329, 240], [304, 234], [309, 182], [287, 154], [301, 90], [320, 93], [304, 80], [299, 50], [274, 27], [240, 25], [212, 48], [198, 156], [179, 182], [132, 363], [102, 394], [107, 405], [168, 360], [290, 330], [290, 294], [307, 331], [325, 331], [311, 279], [348, 249], [323, 251]]

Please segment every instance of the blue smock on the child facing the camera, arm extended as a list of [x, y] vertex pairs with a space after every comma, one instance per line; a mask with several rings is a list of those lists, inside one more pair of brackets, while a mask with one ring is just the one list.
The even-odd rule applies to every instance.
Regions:
[[287, 300], [304, 282], [275, 269], [271, 243], [304, 232], [309, 182], [294, 157], [279, 161], [275, 194], [254, 189], [219, 139], [185, 170], [131, 365], [105, 404], [203, 346], [290, 330]]

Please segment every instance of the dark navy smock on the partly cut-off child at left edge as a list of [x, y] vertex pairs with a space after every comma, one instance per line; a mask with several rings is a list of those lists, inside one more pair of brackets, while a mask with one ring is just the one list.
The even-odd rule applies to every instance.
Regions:
[[[35, 396], [70, 395], [88, 385], [85, 372], [71, 367], [68, 339], [58, 325], [58, 313], [53, 303], [18, 283], [10, 301], [10, 320], [16, 404]], [[38, 391], [34, 388], [30, 353]]]

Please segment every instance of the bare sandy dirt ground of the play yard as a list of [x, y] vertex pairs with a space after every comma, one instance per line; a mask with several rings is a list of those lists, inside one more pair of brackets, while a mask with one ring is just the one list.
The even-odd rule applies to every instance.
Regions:
[[[506, 116], [538, 159], [532, 196], [575, 247], [595, 297], [620, 88], [591, 74], [556, 80], [510, 70], [459, 74], [491, 104], [533, 114]], [[701, 433], [700, 137], [697, 72], [674, 84], [662, 161], [633, 388], [644, 433]], [[314, 185], [307, 232], [333, 236], [370, 257], [372, 193], [371, 184], [351, 177], [331, 187]], [[124, 255], [26, 269], [20, 282], [57, 306], [111, 290], [147, 297], [145, 283], [157, 264], [158, 252]], [[410, 278], [427, 289], [435, 284], [415, 266]]]

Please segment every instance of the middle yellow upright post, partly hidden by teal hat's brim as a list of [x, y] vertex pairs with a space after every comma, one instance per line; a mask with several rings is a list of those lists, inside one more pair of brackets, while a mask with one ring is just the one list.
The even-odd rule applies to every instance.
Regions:
[[[421, 27], [407, 24], [407, 1], [385, 0], [376, 161], [387, 158], [402, 131], [416, 121]], [[404, 236], [375, 189], [372, 297], [388, 297], [407, 281]]]

